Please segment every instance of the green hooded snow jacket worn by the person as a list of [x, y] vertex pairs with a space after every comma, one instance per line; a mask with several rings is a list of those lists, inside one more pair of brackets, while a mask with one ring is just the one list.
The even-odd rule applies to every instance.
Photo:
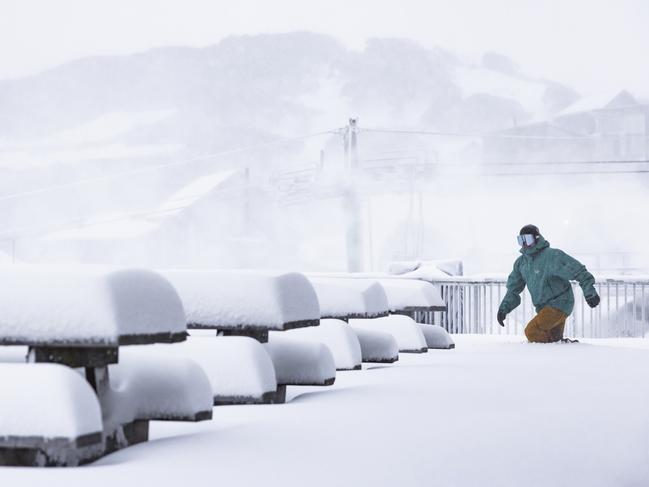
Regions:
[[595, 278], [577, 259], [559, 249], [550, 248], [550, 242], [540, 237], [532, 247], [522, 248], [514, 262], [514, 269], [507, 278], [507, 294], [500, 303], [499, 311], [510, 313], [521, 303], [520, 293], [530, 291], [532, 303], [538, 313], [546, 306], [572, 313], [575, 296], [571, 280], [579, 282], [584, 296], [595, 296]]

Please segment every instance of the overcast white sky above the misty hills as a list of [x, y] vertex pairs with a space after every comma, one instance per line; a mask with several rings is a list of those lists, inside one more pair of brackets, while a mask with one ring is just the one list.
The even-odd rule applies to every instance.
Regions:
[[0, 78], [81, 56], [312, 30], [494, 50], [584, 94], [649, 96], [649, 0], [0, 0]]

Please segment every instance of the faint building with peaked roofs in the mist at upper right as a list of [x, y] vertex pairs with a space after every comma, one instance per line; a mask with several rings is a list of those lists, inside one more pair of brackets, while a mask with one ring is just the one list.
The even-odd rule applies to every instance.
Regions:
[[483, 139], [486, 163], [643, 161], [648, 156], [649, 103], [627, 91], [605, 102], [583, 98], [551, 120]]

